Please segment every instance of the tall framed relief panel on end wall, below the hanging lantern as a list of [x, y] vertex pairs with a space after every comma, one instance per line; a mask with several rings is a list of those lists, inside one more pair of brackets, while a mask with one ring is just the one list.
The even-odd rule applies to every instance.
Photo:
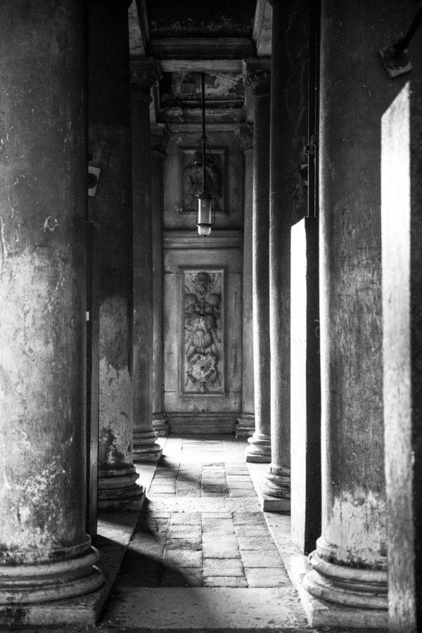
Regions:
[[226, 392], [225, 269], [180, 270], [180, 395]]

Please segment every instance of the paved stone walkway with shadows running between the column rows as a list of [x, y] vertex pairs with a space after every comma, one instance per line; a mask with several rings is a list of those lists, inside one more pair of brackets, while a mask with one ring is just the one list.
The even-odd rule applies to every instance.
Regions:
[[267, 465], [246, 464], [246, 442], [230, 436], [161, 443], [155, 472], [139, 468], [148, 501], [100, 625], [309, 631], [255, 491]]

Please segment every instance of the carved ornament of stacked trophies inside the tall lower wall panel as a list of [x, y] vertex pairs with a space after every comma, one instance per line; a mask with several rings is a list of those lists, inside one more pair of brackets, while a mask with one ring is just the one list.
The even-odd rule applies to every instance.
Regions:
[[215, 275], [200, 272], [185, 294], [185, 386], [191, 383], [200, 393], [220, 386], [220, 292], [210, 292], [214, 285]]

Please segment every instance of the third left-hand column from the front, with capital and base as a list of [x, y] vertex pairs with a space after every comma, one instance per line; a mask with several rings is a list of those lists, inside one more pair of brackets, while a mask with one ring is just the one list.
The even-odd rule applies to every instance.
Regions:
[[155, 60], [131, 63], [134, 198], [134, 459], [158, 461], [153, 430], [153, 224], [151, 202], [151, 86], [161, 76]]

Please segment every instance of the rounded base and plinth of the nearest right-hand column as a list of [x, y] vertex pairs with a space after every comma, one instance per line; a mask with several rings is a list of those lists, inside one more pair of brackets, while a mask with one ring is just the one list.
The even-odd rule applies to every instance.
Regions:
[[302, 601], [312, 626], [388, 627], [387, 571], [327, 563], [309, 554]]

